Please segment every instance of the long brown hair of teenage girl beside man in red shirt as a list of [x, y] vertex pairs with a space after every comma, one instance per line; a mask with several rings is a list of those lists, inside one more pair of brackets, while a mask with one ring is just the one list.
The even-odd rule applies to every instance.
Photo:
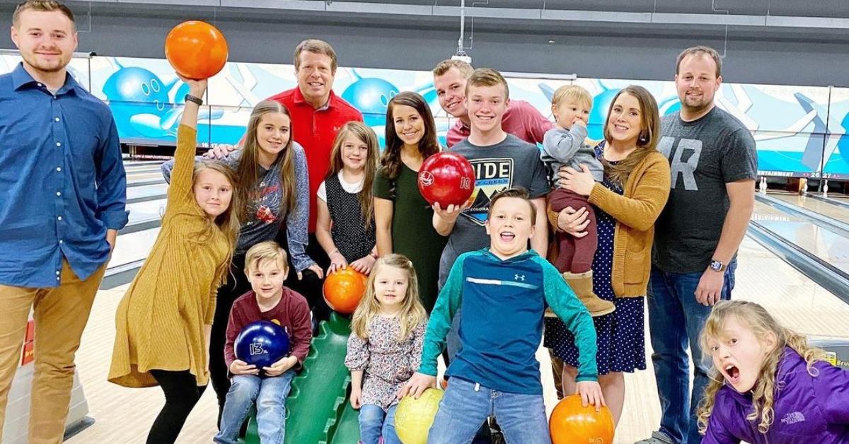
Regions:
[[[292, 150], [292, 140], [295, 135], [292, 134], [292, 115], [283, 104], [275, 100], [263, 100], [256, 104], [254, 110], [250, 111], [250, 119], [248, 119], [248, 128], [245, 131], [245, 147], [242, 149], [242, 158], [239, 160], [239, 167], [236, 173], [241, 179], [241, 185], [245, 188], [247, 198], [250, 199], [254, 193], [256, 183], [260, 179], [259, 160], [257, 151], [260, 149], [259, 143], [256, 141], [256, 128], [260, 126], [262, 116], [270, 113], [281, 113], [289, 117], [290, 131], [289, 142], [282, 151], [278, 153], [276, 161], [283, 162], [280, 166], [280, 183], [283, 187], [283, 199], [280, 200], [281, 213], [285, 210], [286, 213], [295, 211], [297, 200], [295, 198], [295, 153]], [[282, 159], [281, 159], [282, 156]]]

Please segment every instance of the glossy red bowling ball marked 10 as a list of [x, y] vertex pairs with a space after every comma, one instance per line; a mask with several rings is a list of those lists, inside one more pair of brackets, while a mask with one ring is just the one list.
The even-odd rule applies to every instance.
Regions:
[[419, 168], [419, 192], [430, 205], [439, 202], [462, 205], [475, 189], [475, 170], [462, 155], [450, 152], [431, 155]]

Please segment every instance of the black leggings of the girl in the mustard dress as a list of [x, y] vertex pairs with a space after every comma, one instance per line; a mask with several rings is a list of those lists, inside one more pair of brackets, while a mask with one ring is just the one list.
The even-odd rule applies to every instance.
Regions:
[[148, 434], [148, 444], [167, 444], [177, 441], [180, 430], [192, 413], [194, 405], [204, 394], [206, 385], [197, 385], [197, 379], [188, 370], [171, 372], [150, 370], [162, 391], [165, 391], [165, 406], [156, 417]]

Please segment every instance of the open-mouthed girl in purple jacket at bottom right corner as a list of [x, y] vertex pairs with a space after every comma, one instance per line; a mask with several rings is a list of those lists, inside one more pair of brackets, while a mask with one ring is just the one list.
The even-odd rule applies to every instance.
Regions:
[[762, 306], [717, 302], [700, 341], [713, 359], [702, 444], [849, 442], [849, 372]]

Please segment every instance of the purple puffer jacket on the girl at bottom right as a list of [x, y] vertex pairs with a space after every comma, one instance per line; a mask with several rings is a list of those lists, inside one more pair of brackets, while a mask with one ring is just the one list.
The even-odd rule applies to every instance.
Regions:
[[757, 431], [760, 419], [745, 419], [752, 412], [751, 395], [722, 386], [702, 444], [849, 442], [849, 372], [824, 362], [813, 367], [818, 376], [807, 373], [805, 360], [795, 350], [784, 348], [775, 379], [775, 419], [766, 435]]

